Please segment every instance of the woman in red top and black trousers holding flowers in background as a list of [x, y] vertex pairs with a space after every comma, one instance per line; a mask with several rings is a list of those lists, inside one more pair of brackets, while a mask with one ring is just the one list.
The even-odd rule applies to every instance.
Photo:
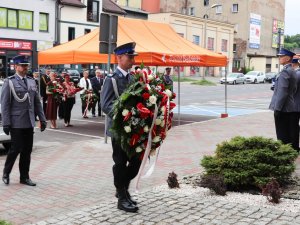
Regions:
[[72, 126], [70, 124], [71, 120], [71, 111], [73, 108], [73, 105], [75, 104], [75, 94], [78, 90], [78, 88], [75, 87], [74, 83], [70, 81], [70, 75], [65, 74], [64, 76], [65, 81], [63, 82], [63, 87], [65, 89], [64, 98], [63, 98], [63, 108], [64, 108], [64, 121], [65, 121], [65, 127]]

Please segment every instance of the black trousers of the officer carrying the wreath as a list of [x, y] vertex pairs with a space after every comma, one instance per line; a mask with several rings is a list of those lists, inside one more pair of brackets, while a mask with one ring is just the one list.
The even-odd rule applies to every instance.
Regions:
[[138, 174], [142, 161], [138, 157], [128, 158], [125, 151], [118, 145], [115, 138], [111, 138], [113, 148], [114, 185], [117, 189], [128, 189], [130, 181]]

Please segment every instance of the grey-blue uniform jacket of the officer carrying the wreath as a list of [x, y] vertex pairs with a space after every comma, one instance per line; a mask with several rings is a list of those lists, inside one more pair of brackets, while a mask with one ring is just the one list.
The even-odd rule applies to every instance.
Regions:
[[107, 121], [107, 135], [111, 136], [111, 132], [109, 131], [112, 126], [112, 117], [113, 117], [113, 102], [116, 100], [117, 96], [114, 92], [112, 79], [116, 80], [116, 84], [118, 87], [118, 93], [121, 95], [124, 90], [128, 87], [129, 83], [132, 82], [130, 75], [128, 74], [125, 77], [119, 69], [112, 75], [107, 75], [101, 91], [101, 108], [103, 112], [108, 116]]

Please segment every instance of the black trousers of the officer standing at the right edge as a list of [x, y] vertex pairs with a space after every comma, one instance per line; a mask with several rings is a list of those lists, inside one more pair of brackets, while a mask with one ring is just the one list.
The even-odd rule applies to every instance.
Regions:
[[297, 112], [279, 112], [274, 114], [277, 139], [291, 144], [299, 151], [299, 114]]

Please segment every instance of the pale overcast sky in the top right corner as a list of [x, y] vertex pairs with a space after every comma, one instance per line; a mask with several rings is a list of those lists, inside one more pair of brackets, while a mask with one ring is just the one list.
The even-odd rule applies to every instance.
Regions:
[[300, 34], [300, 0], [285, 1], [285, 35]]

